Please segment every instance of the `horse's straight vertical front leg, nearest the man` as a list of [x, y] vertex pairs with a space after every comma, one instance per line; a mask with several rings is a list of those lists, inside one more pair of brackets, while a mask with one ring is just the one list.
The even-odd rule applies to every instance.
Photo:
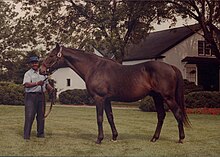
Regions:
[[96, 114], [97, 114], [97, 124], [98, 124], [98, 138], [96, 143], [100, 144], [104, 138], [103, 134], [103, 111], [104, 111], [104, 100], [101, 97], [95, 98], [96, 101]]

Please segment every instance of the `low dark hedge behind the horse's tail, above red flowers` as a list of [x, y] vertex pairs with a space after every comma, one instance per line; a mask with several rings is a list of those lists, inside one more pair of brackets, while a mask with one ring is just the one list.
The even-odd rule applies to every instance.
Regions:
[[188, 108], [220, 108], [220, 92], [192, 92], [185, 96]]

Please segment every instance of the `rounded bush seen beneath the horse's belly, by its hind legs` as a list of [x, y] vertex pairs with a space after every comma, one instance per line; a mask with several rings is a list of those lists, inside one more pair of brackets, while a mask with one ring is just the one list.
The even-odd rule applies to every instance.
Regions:
[[[140, 100], [139, 108], [144, 112], [156, 112], [156, 107], [154, 104], [154, 100], [150, 96], [146, 96], [144, 99]], [[168, 111], [168, 107], [164, 104], [165, 111]]]

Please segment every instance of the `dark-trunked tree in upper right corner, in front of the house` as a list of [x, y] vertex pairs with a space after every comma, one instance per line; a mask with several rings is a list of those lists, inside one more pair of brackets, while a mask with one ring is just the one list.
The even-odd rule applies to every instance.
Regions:
[[166, 0], [177, 15], [198, 21], [203, 37], [211, 44], [220, 59], [220, 1], [219, 0]]

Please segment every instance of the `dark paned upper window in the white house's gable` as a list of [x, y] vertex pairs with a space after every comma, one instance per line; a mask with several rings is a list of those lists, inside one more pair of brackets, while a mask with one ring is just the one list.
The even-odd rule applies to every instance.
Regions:
[[211, 44], [209, 44], [206, 41], [199, 40], [198, 41], [198, 55], [199, 56], [211, 56], [212, 51], [211, 51]]

